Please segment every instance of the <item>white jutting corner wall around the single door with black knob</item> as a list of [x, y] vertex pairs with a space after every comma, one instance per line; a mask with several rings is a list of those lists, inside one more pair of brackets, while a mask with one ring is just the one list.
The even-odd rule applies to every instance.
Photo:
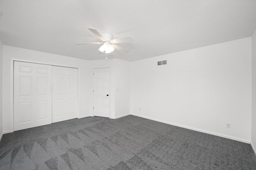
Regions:
[[[110, 68], [110, 118], [116, 119], [130, 113], [130, 62], [119, 59], [90, 61], [90, 92], [93, 99], [93, 69]], [[118, 88], [118, 92], [117, 92]], [[90, 103], [90, 115], [93, 115], [93, 100]]]

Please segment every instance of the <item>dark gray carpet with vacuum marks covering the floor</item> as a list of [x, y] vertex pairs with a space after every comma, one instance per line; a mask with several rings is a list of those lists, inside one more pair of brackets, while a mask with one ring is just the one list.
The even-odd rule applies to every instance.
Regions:
[[251, 170], [249, 144], [128, 115], [86, 117], [3, 135], [0, 169]]

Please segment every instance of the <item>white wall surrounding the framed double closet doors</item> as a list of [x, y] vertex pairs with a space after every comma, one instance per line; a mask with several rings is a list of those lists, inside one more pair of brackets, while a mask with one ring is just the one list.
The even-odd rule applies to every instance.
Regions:
[[76, 59], [62, 55], [43, 53], [28, 49], [21, 49], [3, 45], [3, 131], [9, 133], [11, 130], [11, 58], [34, 61], [35, 63], [49, 63], [58, 66], [79, 67], [80, 70], [80, 117], [90, 114], [90, 64], [89, 61]]

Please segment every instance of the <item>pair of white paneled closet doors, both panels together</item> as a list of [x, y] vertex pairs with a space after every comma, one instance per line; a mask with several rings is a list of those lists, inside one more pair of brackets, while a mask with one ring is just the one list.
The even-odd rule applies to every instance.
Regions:
[[78, 117], [78, 69], [14, 61], [14, 131]]

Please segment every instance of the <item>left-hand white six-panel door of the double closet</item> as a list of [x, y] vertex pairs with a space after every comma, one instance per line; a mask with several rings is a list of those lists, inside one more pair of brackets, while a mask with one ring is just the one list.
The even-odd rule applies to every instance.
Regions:
[[52, 66], [14, 61], [14, 131], [52, 123]]

